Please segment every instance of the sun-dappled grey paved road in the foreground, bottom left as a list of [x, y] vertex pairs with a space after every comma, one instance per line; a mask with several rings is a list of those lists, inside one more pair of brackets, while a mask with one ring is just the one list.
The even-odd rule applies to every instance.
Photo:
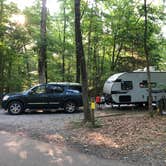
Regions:
[[0, 131], [0, 166], [132, 166]]

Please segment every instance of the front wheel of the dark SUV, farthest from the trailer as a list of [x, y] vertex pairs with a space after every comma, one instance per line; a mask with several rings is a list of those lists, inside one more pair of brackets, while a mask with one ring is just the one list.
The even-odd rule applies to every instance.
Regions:
[[8, 112], [11, 115], [19, 115], [23, 112], [23, 105], [19, 101], [13, 101], [9, 104]]

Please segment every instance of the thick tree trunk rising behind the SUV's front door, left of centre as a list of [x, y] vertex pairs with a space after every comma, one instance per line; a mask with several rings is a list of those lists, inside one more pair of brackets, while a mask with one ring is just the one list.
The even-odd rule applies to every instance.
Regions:
[[40, 26], [40, 50], [39, 50], [39, 83], [47, 82], [47, 43], [46, 43], [46, 17], [47, 8], [46, 1], [42, 0], [42, 11], [41, 11], [41, 26]]

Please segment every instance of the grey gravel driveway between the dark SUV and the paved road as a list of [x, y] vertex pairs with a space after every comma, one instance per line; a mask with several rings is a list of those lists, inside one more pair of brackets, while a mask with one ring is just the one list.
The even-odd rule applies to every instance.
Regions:
[[0, 130], [44, 139], [46, 135], [63, 133], [66, 123], [82, 118], [82, 112], [74, 114], [37, 112], [13, 116], [0, 109]]

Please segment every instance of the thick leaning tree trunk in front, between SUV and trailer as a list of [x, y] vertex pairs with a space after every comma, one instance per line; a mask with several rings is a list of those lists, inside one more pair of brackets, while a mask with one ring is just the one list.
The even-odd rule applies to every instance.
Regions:
[[81, 78], [83, 87], [83, 106], [84, 106], [84, 122], [91, 121], [89, 102], [88, 102], [88, 79], [86, 71], [85, 55], [82, 44], [82, 34], [80, 27], [80, 0], [75, 0], [75, 42], [76, 54], [79, 62], [81, 62]]

